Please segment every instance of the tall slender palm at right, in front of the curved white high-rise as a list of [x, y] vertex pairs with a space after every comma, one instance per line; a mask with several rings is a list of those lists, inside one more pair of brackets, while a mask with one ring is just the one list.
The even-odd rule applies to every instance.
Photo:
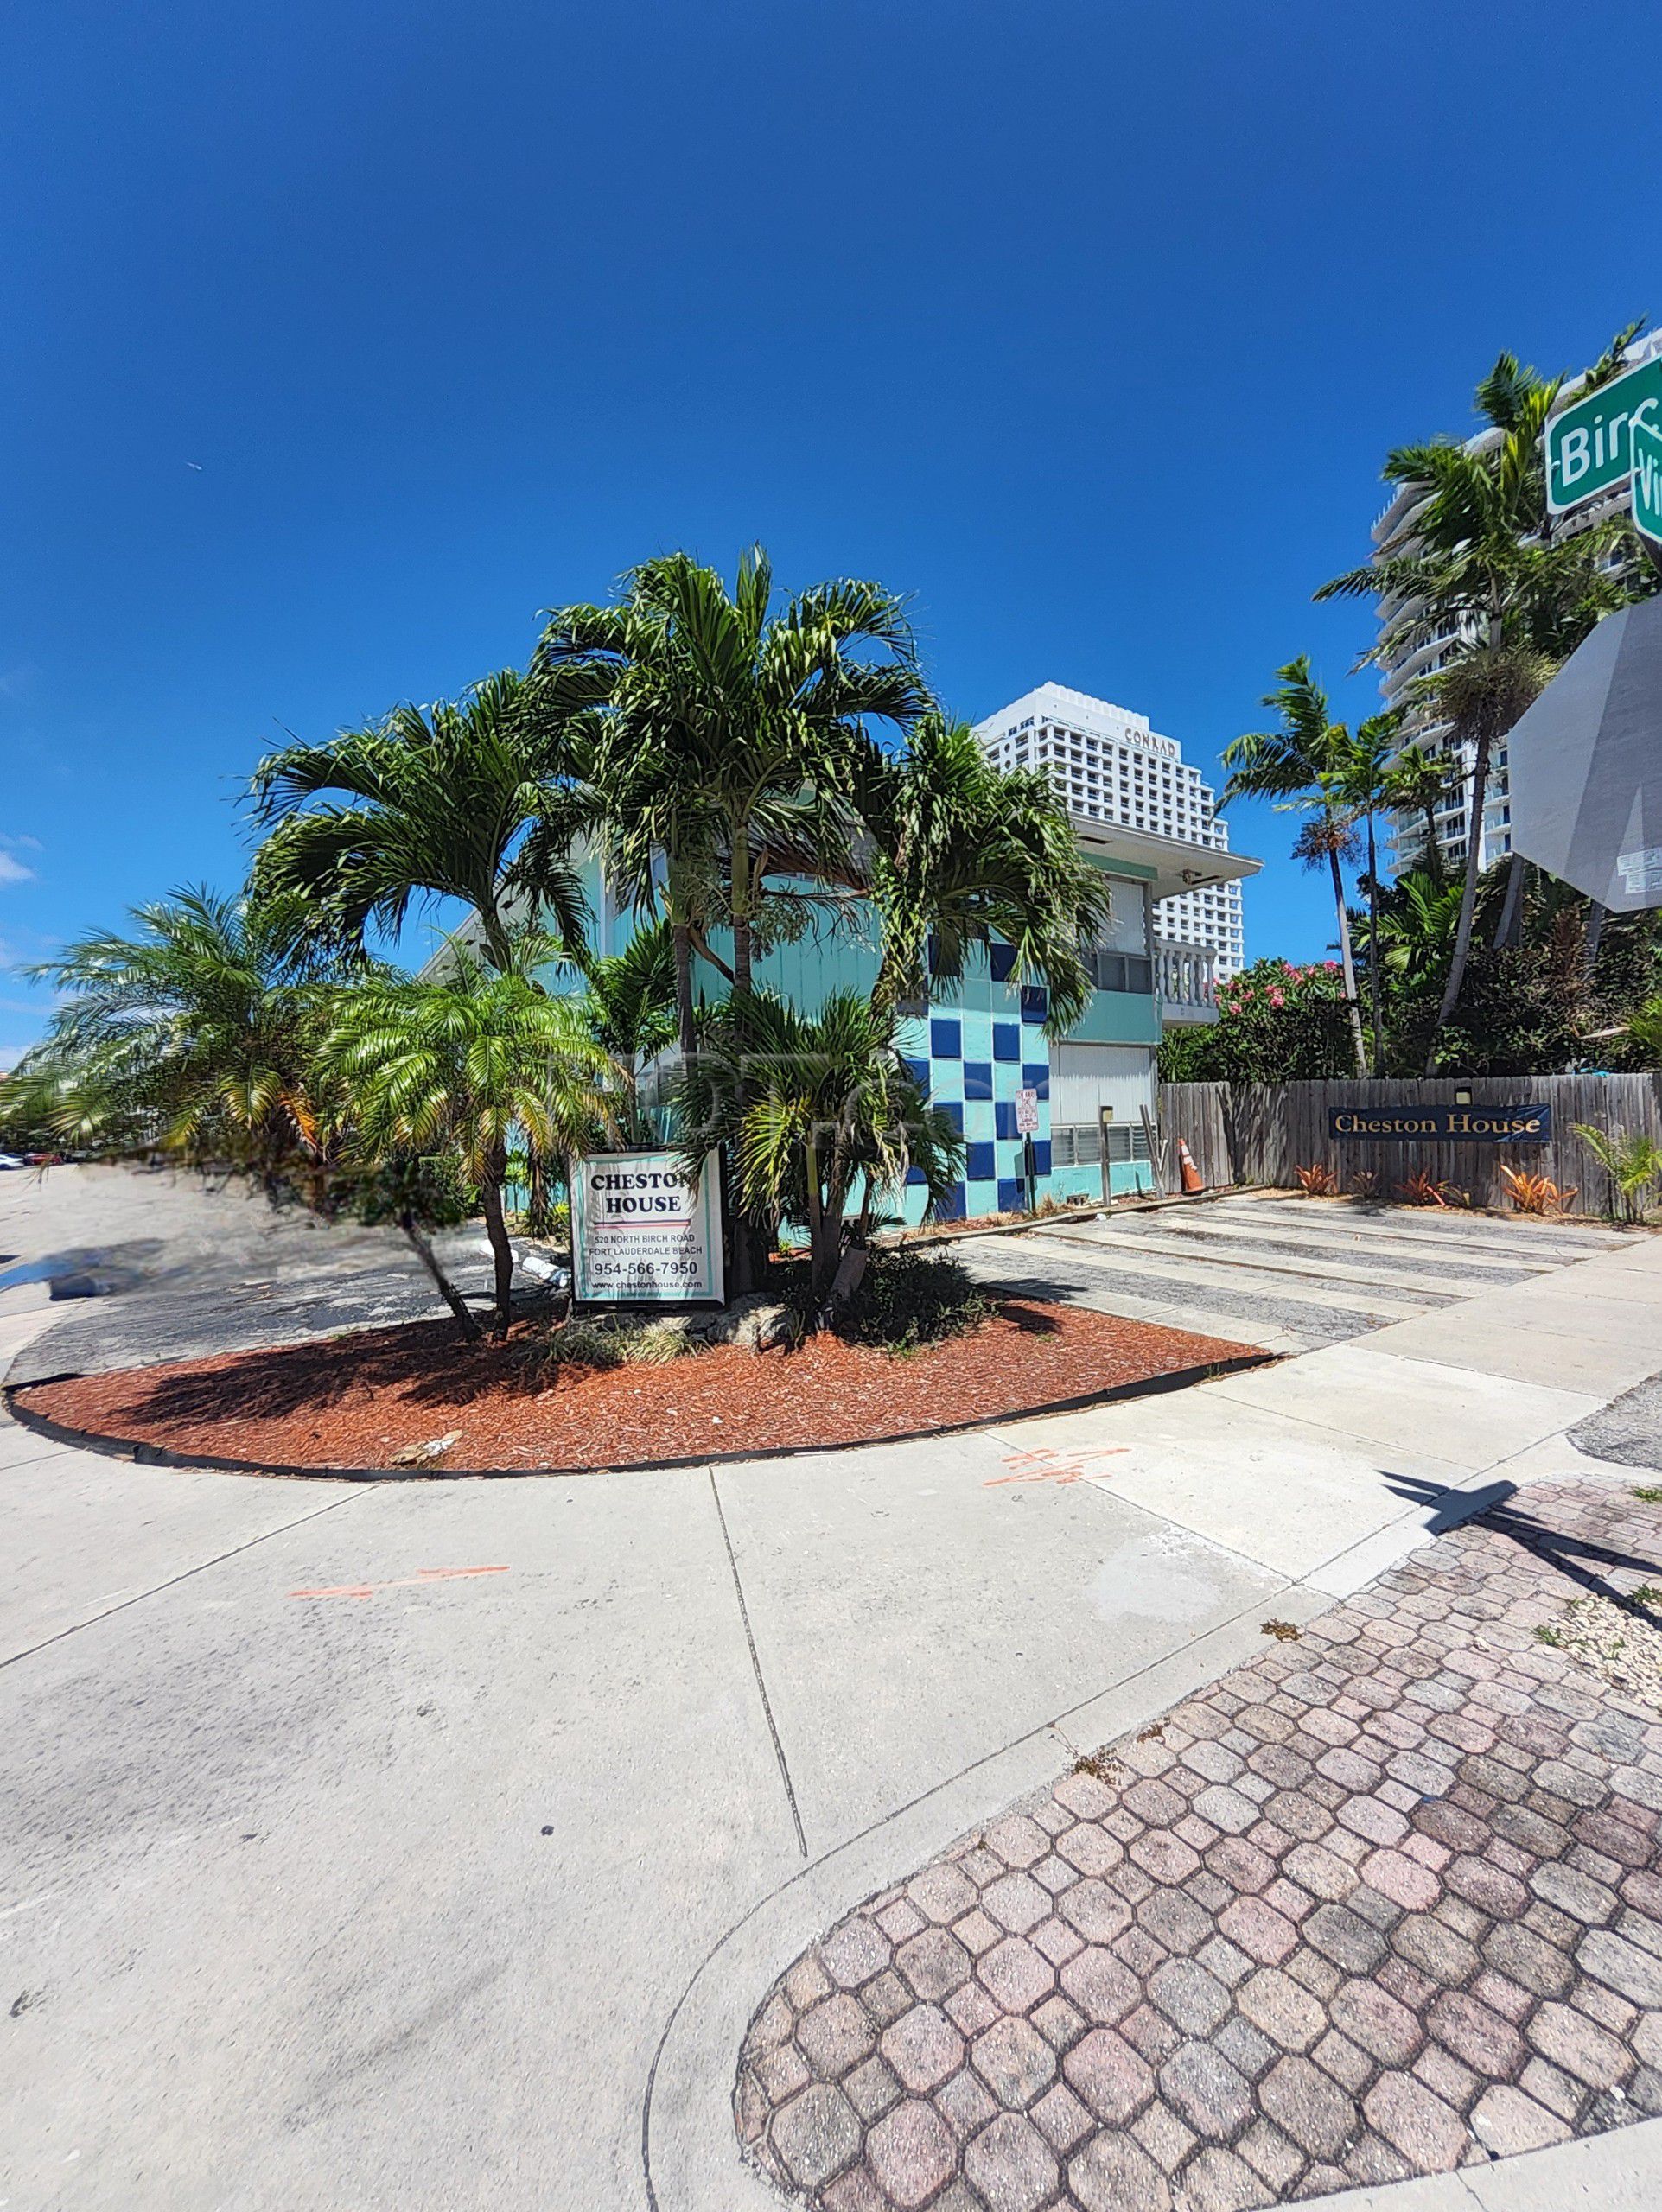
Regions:
[[1469, 445], [1399, 447], [1385, 458], [1385, 480], [1414, 495], [1405, 544], [1317, 591], [1317, 599], [1379, 597], [1385, 622], [1363, 659], [1394, 659], [1452, 639], [1445, 666], [1414, 686], [1416, 703], [1450, 726], [1461, 757], [1472, 761], [1461, 922], [1427, 1075], [1436, 1073], [1438, 1037], [1461, 998], [1472, 949], [1494, 748], [1600, 615], [1653, 588], [1640, 577], [1629, 522], [1596, 524], [1556, 542], [1547, 535], [1540, 436], [1560, 385], [1562, 378], [1540, 378], [1503, 354], [1476, 394], [1483, 436]]

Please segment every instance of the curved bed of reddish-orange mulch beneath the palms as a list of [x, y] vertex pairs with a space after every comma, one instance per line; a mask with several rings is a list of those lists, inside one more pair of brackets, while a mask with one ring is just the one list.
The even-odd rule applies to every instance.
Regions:
[[432, 1321], [75, 1376], [18, 1402], [71, 1429], [257, 1464], [392, 1467], [396, 1451], [460, 1429], [445, 1473], [575, 1469], [865, 1444], [1244, 1356], [1250, 1345], [1217, 1336], [1005, 1298], [972, 1334], [910, 1358], [812, 1336], [797, 1352], [564, 1367], [553, 1387], [527, 1387], [513, 1343], [469, 1347]]

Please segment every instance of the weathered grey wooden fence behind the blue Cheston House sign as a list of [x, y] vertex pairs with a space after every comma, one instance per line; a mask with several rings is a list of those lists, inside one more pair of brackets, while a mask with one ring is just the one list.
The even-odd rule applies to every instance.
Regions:
[[[1456, 1097], [1458, 1093], [1458, 1097]], [[1447, 1137], [1332, 1137], [1334, 1106], [1551, 1106], [1547, 1144], [1461, 1144]], [[1326, 1161], [1346, 1188], [1372, 1170], [1381, 1197], [1414, 1170], [1465, 1190], [1474, 1206], [1503, 1206], [1498, 1170], [1529, 1168], [1560, 1190], [1580, 1190], [1576, 1212], [1611, 1212], [1611, 1179], [1576, 1124], [1640, 1130], [1662, 1144], [1662, 1075], [1487, 1075], [1469, 1082], [1162, 1084], [1160, 1130], [1184, 1139], [1208, 1186], [1295, 1188], [1292, 1170]]]

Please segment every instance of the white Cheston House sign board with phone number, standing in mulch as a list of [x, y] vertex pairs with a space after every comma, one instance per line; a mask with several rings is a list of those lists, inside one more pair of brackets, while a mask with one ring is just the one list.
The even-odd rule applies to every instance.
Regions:
[[721, 1168], [697, 1188], [675, 1152], [591, 1152], [571, 1161], [571, 1276], [578, 1303], [721, 1305]]

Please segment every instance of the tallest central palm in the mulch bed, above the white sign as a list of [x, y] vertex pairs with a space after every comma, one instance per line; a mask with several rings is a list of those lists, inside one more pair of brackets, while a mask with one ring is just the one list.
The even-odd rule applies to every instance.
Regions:
[[633, 905], [668, 916], [690, 1057], [690, 958], [708, 951], [708, 925], [730, 925], [730, 982], [748, 993], [770, 878], [834, 860], [852, 834], [839, 785], [865, 723], [905, 730], [929, 706], [905, 611], [852, 577], [775, 611], [761, 546], [739, 560], [733, 591], [693, 555], [666, 553], [631, 571], [615, 606], [553, 611], [531, 681], [555, 719], [573, 684], [604, 688], [584, 728], [606, 865]]

